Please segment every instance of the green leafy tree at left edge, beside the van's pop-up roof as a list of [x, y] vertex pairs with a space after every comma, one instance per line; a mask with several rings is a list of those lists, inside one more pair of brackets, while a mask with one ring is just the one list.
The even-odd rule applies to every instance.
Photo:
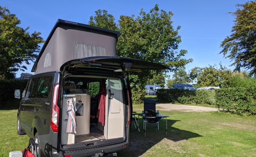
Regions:
[[40, 32], [28, 32], [29, 27], [18, 27], [20, 20], [5, 7], [0, 6], [0, 80], [12, 79], [18, 70], [27, 69], [25, 62], [33, 61], [43, 43]]

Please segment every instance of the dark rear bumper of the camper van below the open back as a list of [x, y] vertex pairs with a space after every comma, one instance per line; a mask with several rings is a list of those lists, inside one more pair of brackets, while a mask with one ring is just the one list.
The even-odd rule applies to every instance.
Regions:
[[72, 151], [63, 151], [63, 154], [53, 154], [53, 156], [65, 156], [71, 155], [71, 157], [92, 157], [92, 156], [115, 156], [117, 151], [122, 151], [128, 146], [129, 142], [123, 142], [118, 144], [112, 144], [108, 146], [95, 147], [95, 148], [86, 148], [86, 149], [77, 149]]

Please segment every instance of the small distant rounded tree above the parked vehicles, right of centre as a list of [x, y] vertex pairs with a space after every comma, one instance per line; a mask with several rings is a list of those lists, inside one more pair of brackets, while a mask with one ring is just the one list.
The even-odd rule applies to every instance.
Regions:
[[220, 69], [215, 68], [216, 65], [204, 68], [195, 67], [190, 70], [189, 77], [197, 82], [199, 87], [221, 87], [224, 82], [225, 71], [227, 70], [221, 63], [219, 65], [221, 66]]

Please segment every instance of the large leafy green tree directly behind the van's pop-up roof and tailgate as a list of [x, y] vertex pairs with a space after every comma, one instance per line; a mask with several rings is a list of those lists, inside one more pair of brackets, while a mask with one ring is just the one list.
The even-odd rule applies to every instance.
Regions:
[[[192, 59], [184, 58], [187, 53], [186, 50], [181, 50], [179, 53], [175, 51], [181, 42], [181, 37], [178, 35], [178, 30], [181, 27], [173, 28], [172, 16], [172, 12], [159, 10], [157, 4], [149, 13], [141, 9], [137, 17], [135, 15], [121, 15], [117, 24], [117, 30], [122, 34], [117, 41], [117, 56], [160, 63], [168, 66], [170, 71], [174, 71], [180, 66], [185, 66], [191, 62]], [[108, 14], [107, 11], [102, 10], [96, 11], [96, 16], [91, 16], [89, 21], [90, 25], [108, 29], [116, 28], [105, 25], [108, 23], [115, 25], [114, 17]], [[132, 88], [144, 88], [148, 80], [154, 79], [153, 76], [157, 77], [159, 75], [162, 74], [143, 71], [139, 74], [132, 73], [129, 78]], [[160, 82], [164, 82], [164, 78], [162, 79]]]

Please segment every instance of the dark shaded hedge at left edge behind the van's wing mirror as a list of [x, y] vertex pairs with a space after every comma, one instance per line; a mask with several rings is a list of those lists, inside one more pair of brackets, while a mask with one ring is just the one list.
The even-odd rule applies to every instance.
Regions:
[[14, 98], [15, 89], [20, 89], [20, 92], [26, 88], [28, 80], [0, 80], [0, 107], [17, 108], [20, 99]]

